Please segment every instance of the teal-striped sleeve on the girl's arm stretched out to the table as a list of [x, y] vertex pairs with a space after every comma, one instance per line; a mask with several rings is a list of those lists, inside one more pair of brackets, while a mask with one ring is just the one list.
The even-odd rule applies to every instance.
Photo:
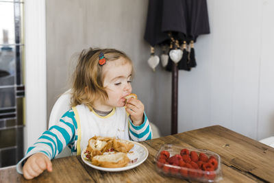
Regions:
[[67, 111], [56, 125], [45, 131], [34, 145], [27, 149], [25, 157], [16, 164], [18, 173], [23, 173], [23, 162], [33, 154], [38, 152], [45, 154], [49, 159], [53, 159], [60, 154], [66, 145], [72, 144], [77, 138], [77, 123], [73, 110]]

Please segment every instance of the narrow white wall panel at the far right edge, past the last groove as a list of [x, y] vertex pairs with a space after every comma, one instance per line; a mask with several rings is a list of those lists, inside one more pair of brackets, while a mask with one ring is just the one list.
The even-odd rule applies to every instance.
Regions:
[[260, 1], [262, 19], [260, 47], [260, 88], [259, 88], [259, 116], [258, 139], [274, 136], [274, 2]]

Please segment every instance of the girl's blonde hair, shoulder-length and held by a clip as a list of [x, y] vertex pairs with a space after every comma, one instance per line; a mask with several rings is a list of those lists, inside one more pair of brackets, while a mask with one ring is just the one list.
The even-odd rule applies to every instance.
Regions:
[[132, 60], [123, 51], [99, 48], [84, 49], [79, 54], [77, 66], [73, 73], [71, 106], [84, 103], [92, 107], [95, 99], [101, 97], [108, 99], [108, 94], [103, 87], [103, 66], [99, 65], [100, 53], [104, 54], [106, 63], [122, 57], [125, 58], [126, 62], [132, 64]]

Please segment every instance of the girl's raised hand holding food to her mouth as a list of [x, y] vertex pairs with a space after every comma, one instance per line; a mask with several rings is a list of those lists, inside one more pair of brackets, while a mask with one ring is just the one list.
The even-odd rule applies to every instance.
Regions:
[[145, 106], [142, 104], [142, 101], [131, 98], [127, 100], [126, 106], [127, 108], [125, 108], [125, 110], [127, 113], [129, 113], [130, 119], [132, 119], [132, 123], [134, 123], [136, 126], [142, 124], [144, 121], [145, 110]]

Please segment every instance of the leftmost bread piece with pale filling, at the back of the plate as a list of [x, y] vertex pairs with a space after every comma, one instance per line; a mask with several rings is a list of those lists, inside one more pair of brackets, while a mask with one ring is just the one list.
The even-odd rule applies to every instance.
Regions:
[[88, 140], [86, 150], [90, 152], [90, 156], [97, 156], [103, 154], [108, 149], [112, 148], [113, 138], [93, 136]]

